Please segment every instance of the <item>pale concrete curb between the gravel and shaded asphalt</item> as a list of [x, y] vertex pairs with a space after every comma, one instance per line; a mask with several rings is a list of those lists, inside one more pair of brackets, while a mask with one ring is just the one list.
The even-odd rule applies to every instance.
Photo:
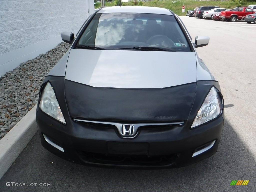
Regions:
[[37, 132], [37, 104], [0, 141], [0, 179]]

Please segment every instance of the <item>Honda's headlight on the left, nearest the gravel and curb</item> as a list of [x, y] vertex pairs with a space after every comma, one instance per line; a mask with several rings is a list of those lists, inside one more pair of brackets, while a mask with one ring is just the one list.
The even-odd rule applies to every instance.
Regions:
[[64, 116], [60, 110], [60, 105], [56, 99], [56, 95], [51, 84], [48, 82], [44, 87], [39, 105], [40, 109], [54, 119], [66, 124]]

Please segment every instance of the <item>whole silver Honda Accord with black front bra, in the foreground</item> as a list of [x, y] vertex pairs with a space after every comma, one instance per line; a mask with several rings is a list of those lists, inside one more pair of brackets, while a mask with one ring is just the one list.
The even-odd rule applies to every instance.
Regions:
[[91, 15], [46, 76], [37, 108], [42, 145], [68, 161], [172, 168], [217, 152], [218, 81], [171, 10], [105, 7]]

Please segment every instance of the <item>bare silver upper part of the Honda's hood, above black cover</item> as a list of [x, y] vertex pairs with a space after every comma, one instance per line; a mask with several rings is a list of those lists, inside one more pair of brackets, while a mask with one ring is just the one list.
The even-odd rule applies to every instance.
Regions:
[[197, 81], [197, 59], [195, 52], [71, 49], [66, 80], [92, 87], [173, 87]]

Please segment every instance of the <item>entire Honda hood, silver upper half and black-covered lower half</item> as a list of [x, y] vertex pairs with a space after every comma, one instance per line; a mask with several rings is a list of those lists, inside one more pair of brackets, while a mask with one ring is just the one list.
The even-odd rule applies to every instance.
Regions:
[[195, 52], [71, 50], [66, 103], [73, 119], [183, 122], [196, 76]]

